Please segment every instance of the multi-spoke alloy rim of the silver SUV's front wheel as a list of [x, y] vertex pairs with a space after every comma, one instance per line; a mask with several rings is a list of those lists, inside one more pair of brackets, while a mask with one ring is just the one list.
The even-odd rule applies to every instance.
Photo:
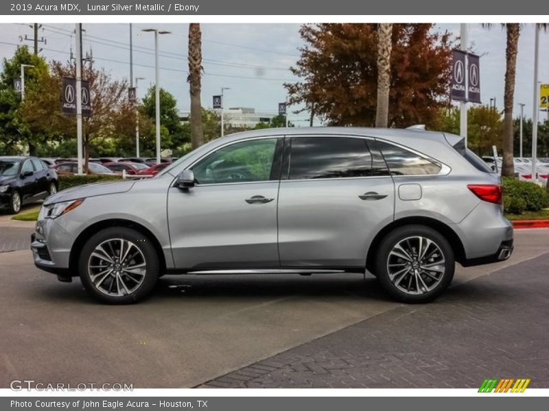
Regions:
[[145, 279], [147, 263], [141, 249], [124, 238], [101, 242], [88, 260], [91, 283], [103, 294], [130, 295]]

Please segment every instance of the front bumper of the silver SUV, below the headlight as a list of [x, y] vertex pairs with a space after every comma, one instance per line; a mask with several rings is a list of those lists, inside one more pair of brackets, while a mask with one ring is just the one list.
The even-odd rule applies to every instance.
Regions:
[[73, 242], [73, 236], [54, 219], [37, 221], [30, 245], [34, 265], [49, 273], [70, 276], [69, 257]]

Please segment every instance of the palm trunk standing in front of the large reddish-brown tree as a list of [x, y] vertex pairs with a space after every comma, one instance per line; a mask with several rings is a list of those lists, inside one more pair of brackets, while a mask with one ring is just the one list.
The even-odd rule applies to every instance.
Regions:
[[392, 23], [379, 23], [379, 27], [377, 27], [377, 110], [375, 127], [387, 127], [388, 123], [392, 35]]

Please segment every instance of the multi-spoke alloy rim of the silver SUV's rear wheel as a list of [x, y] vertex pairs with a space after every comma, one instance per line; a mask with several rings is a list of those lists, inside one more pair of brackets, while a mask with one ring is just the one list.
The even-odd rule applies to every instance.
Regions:
[[444, 254], [433, 240], [404, 238], [391, 249], [387, 272], [393, 285], [409, 295], [421, 295], [438, 286], [446, 269]]

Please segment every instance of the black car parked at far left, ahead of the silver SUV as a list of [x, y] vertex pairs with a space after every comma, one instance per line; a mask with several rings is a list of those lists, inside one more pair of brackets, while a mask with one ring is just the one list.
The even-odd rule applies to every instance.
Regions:
[[0, 210], [17, 214], [25, 203], [57, 192], [57, 173], [36, 157], [0, 157]]

